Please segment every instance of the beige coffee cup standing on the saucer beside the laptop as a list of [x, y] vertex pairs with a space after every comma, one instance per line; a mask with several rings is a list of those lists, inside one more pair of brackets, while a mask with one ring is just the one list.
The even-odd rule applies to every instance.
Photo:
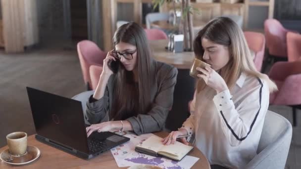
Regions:
[[22, 156], [27, 149], [27, 134], [26, 132], [12, 132], [6, 135], [6, 141], [9, 153], [13, 156]]

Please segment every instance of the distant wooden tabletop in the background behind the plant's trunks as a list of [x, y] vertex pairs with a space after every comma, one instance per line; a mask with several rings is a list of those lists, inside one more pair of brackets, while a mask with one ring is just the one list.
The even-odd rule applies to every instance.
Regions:
[[[200, 30], [203, 26], [206, 25], [206, 22], [195, 20], [193, 21], [193, 29]], [[159, 28], [159, 29], [165, 29], [165, 30], [175, 30], [177, 27], [171, 23], [168, 23], [167, 21], [155, 21], [151, 23], [151, 27], [153, 28]]]

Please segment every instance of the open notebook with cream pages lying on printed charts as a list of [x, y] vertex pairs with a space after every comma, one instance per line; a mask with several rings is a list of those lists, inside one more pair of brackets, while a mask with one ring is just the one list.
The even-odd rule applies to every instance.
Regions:
[[162, 138], [158, 136], [151, 136], [142, 144], [135, 147], [135, 150], [151, 156], [165, 156], [173, 160], [180, 161], [186, 154], [194, 147], [185, 145], [178, 141], [175, 144], [163, 145]]

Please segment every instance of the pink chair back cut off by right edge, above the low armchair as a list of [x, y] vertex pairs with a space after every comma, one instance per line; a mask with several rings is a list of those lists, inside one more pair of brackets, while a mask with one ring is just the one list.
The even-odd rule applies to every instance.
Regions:
[[289, 62], [294, 62], [301, 57], [301, 35], [293, 32], [287, 33], [287, 49]]

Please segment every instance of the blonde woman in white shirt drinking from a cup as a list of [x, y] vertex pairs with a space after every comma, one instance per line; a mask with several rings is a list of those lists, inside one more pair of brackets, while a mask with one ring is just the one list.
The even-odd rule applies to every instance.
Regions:
[[[191, 115], [163, 144], [188, 134], [188, 144], [205, 154], [211, 165], [241, 169], [256, 155], [269, 93], [276, 85], [256, 71], [242, 30], [231, 19], [210, 21], [194, 41], [195, 55], [211, 65], [200, 72]], [[214, 167], [212, 167], [214, 168]]]

